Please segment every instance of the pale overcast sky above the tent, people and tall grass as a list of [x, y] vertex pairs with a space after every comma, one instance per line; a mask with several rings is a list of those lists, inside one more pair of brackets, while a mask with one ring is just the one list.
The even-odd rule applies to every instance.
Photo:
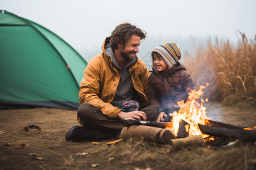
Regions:
[[105, 37], [124, 22], [147, 32], [138, 53], [141, 58], [167, 41], [177, 42], [184, 52], [192, 48], [193, 39], [204, 44], [217, 36], [236, 42], [237, 30], [253, 39], [255, 7], [254, 0], [0, 0], [1, 10], [43, 25], [86, 61], [101, 52]]

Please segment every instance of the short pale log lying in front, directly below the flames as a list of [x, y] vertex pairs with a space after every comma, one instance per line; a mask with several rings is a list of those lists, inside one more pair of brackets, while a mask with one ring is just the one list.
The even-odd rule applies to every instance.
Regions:
[[190, 136], [187, 138], [172, 139], [172, 145], [175, 147], [184, 146], [202, 146], [204, 143], [203, 137], [201, 135]]

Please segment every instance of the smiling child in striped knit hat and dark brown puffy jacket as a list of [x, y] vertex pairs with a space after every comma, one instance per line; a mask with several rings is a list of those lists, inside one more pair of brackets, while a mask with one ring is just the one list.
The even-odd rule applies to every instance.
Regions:
[[[148, 78], [149, 104], [159, 107], [156, 121], [170, 121], [167, 114], [179, 111], [176, 102], [187, 101], [188, 92], [195, 89], [196, 85], [185, 66], [179, 62], [181, 53], [176, 42], [156, 46], [151, 57], [153, 73]], [[196, 106], [199, 107], [200, 104], [197, 103]]]

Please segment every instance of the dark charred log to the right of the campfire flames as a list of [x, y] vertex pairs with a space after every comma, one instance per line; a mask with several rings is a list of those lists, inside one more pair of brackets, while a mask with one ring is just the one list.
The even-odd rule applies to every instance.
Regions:
[[256, 141], [256, 131], [254, 130], [220, 128], [201, 124], [198, 125], [199, 129], [203, 134], [208, 134], [216, 137], [236, 138], [241, 139], [241, 141]]

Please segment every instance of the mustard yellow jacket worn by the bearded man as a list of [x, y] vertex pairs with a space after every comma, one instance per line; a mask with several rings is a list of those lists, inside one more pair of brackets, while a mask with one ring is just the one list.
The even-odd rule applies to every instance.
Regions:
[[[121, 109], [114, 107], [112, 100], [120, 79], [117, 67], [111, 58], [106, 54], [105, 43], [109, 41], [107, 37], [102, 45], [102, 53], [92, 58], [84, 70], [84, 78], [80, 83], [79, 100], [82, 103], [90, 103], [101, 109], [102, 113], [110, 118], [117, 117]], [[148, 92], [148, 76], [150, 75], [144, 62], [137, 58], [137, 61], [129, 67], [133, 86], [137, 90], [141, 100], [141, 107], [148, 105], [146, 94]]]

